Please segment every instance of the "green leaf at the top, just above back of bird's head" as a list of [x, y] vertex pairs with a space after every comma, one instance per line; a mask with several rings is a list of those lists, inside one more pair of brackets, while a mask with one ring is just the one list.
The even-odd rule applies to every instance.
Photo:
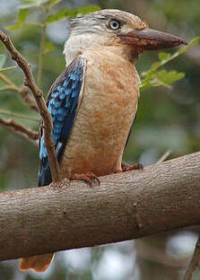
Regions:
[[85, 13], [91, 13], [95, 11], [99, 11], [100, 7], [96, 5], [90, 5], [90, 6], [83, 6], [79, 9], [72, 9], [68, 10], [67, 8], [63, 8], [59, 10], [57, 13], [51, 14], [48, 16], [47, 23], [57, 22], [64, 20], [69, 17], [74, 17], [77, 14], [85, 14]]

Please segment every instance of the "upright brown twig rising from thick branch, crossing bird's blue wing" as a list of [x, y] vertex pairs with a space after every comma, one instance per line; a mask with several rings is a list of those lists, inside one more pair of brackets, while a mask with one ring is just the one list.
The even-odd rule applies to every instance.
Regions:
[[30, 88], [35, 101], [39, 108], [39, 114], [41, 115], [44, 123], [44, 140], [45, 145], [48, 151], [48, 161], [50, 165], [51, 175], [53, 180], [61, 179], [61, 171], [59, 164], [57, 162], [57, 155], [55, 151], [54, 142], [52, 139], [52, 119], [48, 112], [48, 108], [43, 99], [42, 92], [35, 83], [33, 74], [30, 69], [30, 64], [22, 57], [22, 55], [14, 48], [11, 39], [4, 34], [3, 31], [0, 31], [0, 39], [3, 42], [5, 48], [10, 52], [13, 60], [16, 61], [17, 65], [22, 69], [23, 74], [25, 75], [24, 84]]

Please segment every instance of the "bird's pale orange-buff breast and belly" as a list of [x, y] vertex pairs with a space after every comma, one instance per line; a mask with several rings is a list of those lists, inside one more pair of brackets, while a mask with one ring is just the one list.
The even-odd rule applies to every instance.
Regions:
[[122, 57], [90, 52], [83, 98], [61, 162], [64, 176], [121, 171], [126, 139], [135, 118], [139, 78]]

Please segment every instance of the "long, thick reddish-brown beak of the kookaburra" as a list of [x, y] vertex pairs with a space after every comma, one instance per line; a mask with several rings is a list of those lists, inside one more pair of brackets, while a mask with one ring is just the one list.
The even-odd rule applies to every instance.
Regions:
[[133, 45], [136, 48], [142, 48], [143, 50], [173, 48], [181, 44], [187, 45], [187, 42], [183, 39], [152, 29], [135, 30], [127, 33], [118, 32], [117, 35], [126, 44]]

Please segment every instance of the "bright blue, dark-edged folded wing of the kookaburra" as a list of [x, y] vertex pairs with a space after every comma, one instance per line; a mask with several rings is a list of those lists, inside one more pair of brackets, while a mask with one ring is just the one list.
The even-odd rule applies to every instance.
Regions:
[[[86, 61], [77, 57], [66, 67], [48, 93], [47, 106], [53, 121], [52, 138], [60, 162], [65, 144], [73, 127], [75, 111], [83, 85], [83, 74]], [[39, 187], [52, 182], [48, 163], [48, 153], [44, 143], [43, 129], [40, 126], [39, 139]]]

